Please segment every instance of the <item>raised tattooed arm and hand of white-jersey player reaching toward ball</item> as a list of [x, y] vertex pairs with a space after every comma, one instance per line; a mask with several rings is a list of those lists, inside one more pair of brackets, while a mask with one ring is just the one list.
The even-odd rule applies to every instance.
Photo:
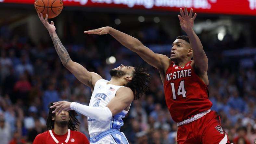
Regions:
[[38, 14], [38, 17], [40, 18], [40, 20], [42, 21], [42, 23], [48, 30], [48, 32], [52, 38], [55, 50], [61, 60], [61, 63], [63, 64], [63, 66], [65, 66], [72, 74], [74, 74], [75, 77], [79, 81], [81, 81], [85, 85], [89, 86], [90, 88], [94, 88], [96, 81], [98, 79], [101, 79], [101, 77], [96, 73], [87, 71], [87, 69], [84, 68], [83, 66], [81, 66], [80, 64], [73, 62], [69, 56], [68, 51], [62, 45], [60, 39], [58, 38], [57, 33], [55, 32], [56, 28], [54, 26], [53, 21], [51, 22], [51, 24], [48, 23], [48, 21], [47, 21], [48, 15], [47, 14], [46, 14], [45, 19], [44, 19], [42, 13]]

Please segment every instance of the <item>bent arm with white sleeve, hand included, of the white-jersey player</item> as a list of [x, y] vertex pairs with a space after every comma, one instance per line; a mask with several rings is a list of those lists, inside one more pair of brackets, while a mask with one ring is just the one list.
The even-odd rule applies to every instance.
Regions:
[[117, 90], [116, 96], [106, 107], [90, 107], [77, 102], [54, 102], [51, 108], [55, 108], [52, 113], [60, 114], [61, 111], [75, 110], [92, 119], [102, 123], [109, 121], [113, 115], [119, 114], [128, 107], [134, 99], [133, 91], [130, 88], [122, 87]]

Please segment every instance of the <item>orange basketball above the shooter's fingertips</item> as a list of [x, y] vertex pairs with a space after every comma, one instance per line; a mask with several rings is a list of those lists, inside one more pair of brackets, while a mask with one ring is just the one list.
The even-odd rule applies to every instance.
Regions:
[[48, 14], [48, 18], [57, 17], [63, 9], [63, 0], [35, 0], [35, 10], [42, 13], [44, 18]]

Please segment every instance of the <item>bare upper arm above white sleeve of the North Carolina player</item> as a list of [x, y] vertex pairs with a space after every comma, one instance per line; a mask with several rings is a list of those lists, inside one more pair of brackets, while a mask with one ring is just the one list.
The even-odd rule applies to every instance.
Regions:
[[116, 96], [107, 104], [112, 115], [119, 114], [125, 108], [130, 106], [134, 100], [133, 91], [130, 88], [122, 87], [116, 92]]

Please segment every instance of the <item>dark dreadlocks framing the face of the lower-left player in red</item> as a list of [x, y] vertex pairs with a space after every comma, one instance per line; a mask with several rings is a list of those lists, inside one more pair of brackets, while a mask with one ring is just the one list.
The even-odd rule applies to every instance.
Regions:
[[[52, 117], [55, 116], [55, 114], [53, 114], [52, 112], [55, 110], [55, 108], [51, 109], [50, 106], [53, 106], [53, 102], [50, 102], [48, 105], [49, 114], [46, 121], [47, 130], [54, 128], [54, 120], [52, 120]], [[80, 122], [77, 120], [76, 116], [78, 116], [78, 114], [74, 110], [69, 111], [70, 120], [68, 122], [68, 128], [73, 131], [76, 131], [77, 130], [76, 126], [80, 125]]]

